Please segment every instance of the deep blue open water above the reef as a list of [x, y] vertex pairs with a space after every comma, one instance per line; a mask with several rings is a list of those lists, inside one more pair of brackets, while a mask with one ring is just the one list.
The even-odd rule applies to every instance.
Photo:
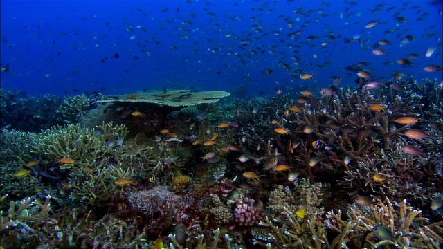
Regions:
[[[355, 85], [356, 72], [344, 68], [362, 61], [376, 80], [388, 80], [396, 71], [442, 80], [441, 71], [423, 70], [442, 66], [442, 46], [424, 56], [426, 48], [442, 42], [441, 1], [355, 3], [3, 0], [1, 64], [10, 71], [1, 72], [1, 87], [30, 95], [115, 95], [163, 87], [233, 91], [239, 86], [248, 91], [245, 95], [273, 94], [275, 88], [287, 93], [327, 87], [332, 76], [343, 77], [341, 86]], [[383, 6], [372, 13], [379, 3]], [[397, 24], [396, 13], [406, 23]], [[378, 19], [374, 28], [365, 28]], [[297, 30], [299, 35], [288, 37]], [[434, 35], [423, 38], [426, 33]], [[316, 38], [308, 41], [310, 35]], [[354, 35], [364, 44], [345, 44]], [[400, 46], [406, 35], [414, 41]], [[381, 46], [389, 54], [372, 55], [381, 39], [393, 43]], [[410, 53], [422, 57], [411, 59], [408, 68], [397, 64]], [[272, 73], [264, 75], [265, 68]], [[296, 68], [314, 78], [294, 77]]]

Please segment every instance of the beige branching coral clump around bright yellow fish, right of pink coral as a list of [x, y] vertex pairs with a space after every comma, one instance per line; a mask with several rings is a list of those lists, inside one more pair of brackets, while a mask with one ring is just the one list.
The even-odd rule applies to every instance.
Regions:
[[[255, 237], [253, 243], [272, 248], [322, 248], [327, 243], [327, 234], [318, 222], [323, 214], [323, 208], [318, 208], [323, 196], [321, 187], [321, 183], [311, 185], [307, 179], [295, 183], [293, 191], [282, 185], [276, 187], [264, 210], [264, 221], [260, 222], [260, 226], [271, 232], [265, 239]], [[296, 215], [299, 209], [306, 212], [303, 218]]]

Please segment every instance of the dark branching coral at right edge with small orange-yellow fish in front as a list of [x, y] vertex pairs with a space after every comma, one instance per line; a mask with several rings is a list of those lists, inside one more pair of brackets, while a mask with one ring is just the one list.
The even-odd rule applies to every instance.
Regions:
[[423, 205], [431, 199], [432, 193], [443, 187], [432, 158], [437, 158], [433, 151], [423, 156], [412, 156], [404, 154], [401, 145], [397, 145], [388, 153], [380, 151], [350, 164], [339, 182], [354, 192], [372, 192], [393, 201], [409, 199]]

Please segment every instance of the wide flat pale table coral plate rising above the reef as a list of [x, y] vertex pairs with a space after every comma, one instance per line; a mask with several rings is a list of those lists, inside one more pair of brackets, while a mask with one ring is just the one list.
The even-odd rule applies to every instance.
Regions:
[[98, 103], [149, 103], [168, 107], [190, 107], [197, 104], [215, 103], [220, 98], [228, 97], [230, 93], [225, 91], [204, 91], [191, 93], [189, 90], [168, 91], [167, 93], [137, 93], [136, 98], [128, 98], [129, 95], [107, 96]]

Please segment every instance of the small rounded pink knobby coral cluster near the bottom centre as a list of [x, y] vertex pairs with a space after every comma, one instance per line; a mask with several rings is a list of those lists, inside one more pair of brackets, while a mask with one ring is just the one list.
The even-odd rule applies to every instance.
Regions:
[[235, 221], [239, 223], [239, 225], [250, 226], [254, 224], [258, 224], [259, 221], [262, 221], [262, 216], [260, 216], [260, 210], [254, 207], [254, 200], [248, 197], [244, 199], [239, 199], [237, 203], [235, 203]]

